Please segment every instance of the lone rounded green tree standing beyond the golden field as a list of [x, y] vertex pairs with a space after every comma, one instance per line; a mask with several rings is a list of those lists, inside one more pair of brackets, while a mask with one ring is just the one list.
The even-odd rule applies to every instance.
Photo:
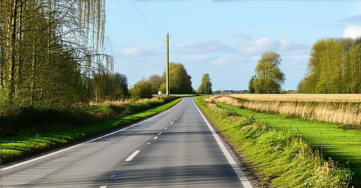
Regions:
[[250, 93], [277, 94], [286, 80], [284, 73], [279, 68], [281, 55], [274, 51], [266, 51], [255, 68], [256, 74], [248, 82]]

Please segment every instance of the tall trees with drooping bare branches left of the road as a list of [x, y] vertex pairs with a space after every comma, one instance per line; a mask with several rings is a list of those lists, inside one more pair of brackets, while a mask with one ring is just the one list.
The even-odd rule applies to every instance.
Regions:
[[4, 106], [66, 107], [104, 87], [105, 0], [1, 0], [0, 18]]

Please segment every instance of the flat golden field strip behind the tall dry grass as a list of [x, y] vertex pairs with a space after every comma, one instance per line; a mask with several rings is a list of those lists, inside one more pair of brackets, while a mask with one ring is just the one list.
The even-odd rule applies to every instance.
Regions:
[[235, 94], [251, 101], [361, 102], [361, 94]]

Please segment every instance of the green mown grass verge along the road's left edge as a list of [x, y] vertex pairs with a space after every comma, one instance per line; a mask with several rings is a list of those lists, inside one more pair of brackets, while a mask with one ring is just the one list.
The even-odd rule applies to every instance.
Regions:
[[119, 116], [117, 119], [109, 120], [99, 124], [87, 125], [85, 127], [62, 132], [45, 132], [35, 135], [14, 136], [0, 138], [0, 164], [13, 159], [26, 157], [59, 146], [64, 146], [71, 142], [87, 138], [102, 132], [129, 125], [141, 119], [147, 118], [158, 112], [164, 111], [182, 98], [165, 103], [161, 106], [149, 110], [136, 112], [131, 115]]

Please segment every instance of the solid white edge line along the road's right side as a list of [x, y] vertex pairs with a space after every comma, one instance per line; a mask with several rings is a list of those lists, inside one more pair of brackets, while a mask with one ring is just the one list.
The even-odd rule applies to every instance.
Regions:
[[214, 138], [216, 138], [216, 141], [219, 145], [219, 147], [221, 148], [221, 150], [223, 151], [223, 154], [226, 156], [228, 162], [230, 163], [230, 165], [232, 166], [233, 170], [236, 172], [239, 180], [241, 180], [243, 187], [244, 188], [253, 188], [251, 183], [249, 183], [248, 179], [246, 178], [246, 176], [243, 174], [243, 172], [241, 171], [241, 169], [238, 167], [237, 163], [233, 160], [232, 156], [229, 154], [228, 150], [226, 149], [225, 145], [223, 144], [223, 142], [221, 141], [221, 139], [218, 137], [216, 131], [214, 131], [214, 129], [212, 128], [212, 126], [210, 126], [208, 120], [204, 117], [203, 113], [201, 112], [201, 110], [199, 110], [198, 106], [196, 105], [196, 103], [194, 102], [194, 98], [193, 98], [193, 103], [194, 105], [197, 107], [199, 113], [201, 114], [201, 116], [203, 117], [205, 123], [208, 125], [208, 128], [210, 129], [210, 131], [212, 132]]

